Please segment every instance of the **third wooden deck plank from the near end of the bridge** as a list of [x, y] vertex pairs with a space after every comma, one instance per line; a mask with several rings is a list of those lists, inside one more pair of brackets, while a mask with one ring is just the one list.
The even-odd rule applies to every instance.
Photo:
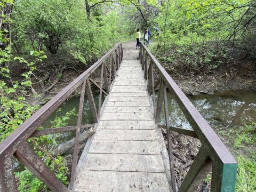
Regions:
[[161, 155], [158, 141], [94, 140], [89, 153]]

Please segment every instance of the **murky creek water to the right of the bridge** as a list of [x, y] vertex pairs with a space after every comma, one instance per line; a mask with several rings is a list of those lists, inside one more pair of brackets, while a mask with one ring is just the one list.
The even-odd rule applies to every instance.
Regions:
[[[171, 94], [168, 95], [168, 100], [171, 125], [190, 128], [185, 115]], [[215, 95], [203, 94], [189, 97], [189, 100], [213, 127], [256, 121], [256, 92], [229, 91]], [[163, 115], [161, 123], [164, 124]]]

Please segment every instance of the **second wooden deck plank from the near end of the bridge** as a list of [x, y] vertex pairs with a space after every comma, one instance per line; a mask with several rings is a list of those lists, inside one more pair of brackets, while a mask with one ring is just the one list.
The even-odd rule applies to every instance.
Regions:
[[81, 173], [86, 170], [164, 172], [161, 155], [88, 154]]

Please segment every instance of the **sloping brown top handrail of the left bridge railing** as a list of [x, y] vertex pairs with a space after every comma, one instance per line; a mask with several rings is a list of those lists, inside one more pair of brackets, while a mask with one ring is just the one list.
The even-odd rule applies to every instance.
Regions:
[[[23, 122], [16, 130], [14, 130], [5, 140], [0, 143], [0, 157], [6, 152], [13, 154], [18, 146], [26, 141], [31, 134], [33, 134], [36, 129], [43, 124], [43, 122], [51, 115], [47, 111], [54, 111], [57, 109], [74, 90], [80, 86], [83, 81], [89, 77], [100, 65], [101, 63], [109, 57], [109, 55], [119, 46], [118, 43], [111, 49], [108, 53], [103, 55], [97, 62], [95, 62], [91, 67], [79, 75], [73, 82], [67, 85], [63, 90], [61, 90], [57, 95], [55, 95], [50, 101], [45, 103], [45, 105], [38, 109], [30, 118]], [[60, 100], [62, 102], [60, 102]], [[23, 138], [22, 140], [20, 138]], [[15, 145], [15, 146], [14, 146]], [[13, 148], [10, 150], [10, 148]]]

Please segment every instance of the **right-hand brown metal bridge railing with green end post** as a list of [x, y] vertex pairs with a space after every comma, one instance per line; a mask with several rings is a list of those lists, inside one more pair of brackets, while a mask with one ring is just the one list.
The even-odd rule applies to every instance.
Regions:
[[[167, 132], [172, 191], [195, 191], [199, 183], [205, 179], [206, 175], [211, 170], [211, 191], [234, 191], [237, 172], [237, 162], [235, 158], [231, 155], [230, 151], [210, 125], [205, 121], [201, 114], [199, 114], [186, 95], [180, 90], [179, 86], [173, 81], [170, 75], [167, 74], [154, 55], [150, 53], [145, 45], [142, 43], [140, 45], [140, 62], [142, 64], [142, 69], [144, 70], [144, 77], [147, 80], [148, 93], [152, 95], [153, 98], [156, 123], [159, 123], [162, 105], [164, 104], [166, 125], [159, 126], [164, 127]], [[159, 79], [156, 82], [154, 73], [157, 73], [159, 76]], [[155, 88], [158, 85], [159, 90], [156, 103]], [[172, 127], [170, 125], [167, 91], [170, 91], [173, 95], [194, 131]], [[171, 131], [198, 138], [202, 143], [202, 146], [179, 189], [175, 182]]]

